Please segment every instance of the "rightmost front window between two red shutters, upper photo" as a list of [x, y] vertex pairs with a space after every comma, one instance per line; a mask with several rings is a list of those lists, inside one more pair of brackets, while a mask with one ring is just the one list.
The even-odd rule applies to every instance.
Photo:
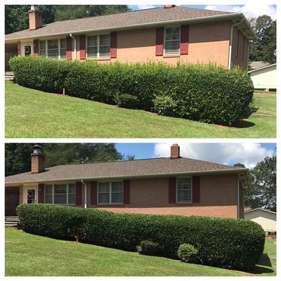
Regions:
[[179, 27], [166, 28], [164, 53], [165, 55], [180, 53], [180, 28]]

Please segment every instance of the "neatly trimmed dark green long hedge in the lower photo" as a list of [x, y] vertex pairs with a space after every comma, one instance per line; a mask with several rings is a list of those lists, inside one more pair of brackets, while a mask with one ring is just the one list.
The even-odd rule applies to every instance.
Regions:
[[136, 251], [142, 240], [159, 244], [162, 256], [175, 257], [180, 244], [192, 244], [202, 264], [247, 270], [263, 253], [264, 233], [252, 221], [234, 218], [114, 214], [110, 211], [23, 204], [22, 229], [48, 237]]

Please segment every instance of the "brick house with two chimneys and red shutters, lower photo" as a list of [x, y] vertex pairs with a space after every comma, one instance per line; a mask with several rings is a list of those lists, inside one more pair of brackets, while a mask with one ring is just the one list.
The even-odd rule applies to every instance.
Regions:
[[248, 170], [180, 156], [45, 169], [34, 146], [32, 171], [5, 179], [6, 216], [18, 204], [51, 203], [122, 213], [244, 218]]

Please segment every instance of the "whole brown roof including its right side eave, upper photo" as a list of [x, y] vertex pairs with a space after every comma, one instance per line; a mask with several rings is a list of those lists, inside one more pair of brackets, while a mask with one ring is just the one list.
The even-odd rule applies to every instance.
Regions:
[[229, 13], [223, 11], [210, 11], [198, 8], [175, 6], [174, 8], [150, 8], [114, 15], [102, 15], [92, 18], [77, 20], [64, 20], [44, 25], [38, 30], [22, 30], [5, 36], [6, 41], [34, 37], [46, 37], [58, 34], [75, 34], [81, 32], [121, 30], [127, 28], [157, 26], [173, 22], [196, 22], [208, 20], [233, 20], [243, 19], [240, 27], [248, 39], [254, 39], [255, 34], [249, 22], [242, 13]]

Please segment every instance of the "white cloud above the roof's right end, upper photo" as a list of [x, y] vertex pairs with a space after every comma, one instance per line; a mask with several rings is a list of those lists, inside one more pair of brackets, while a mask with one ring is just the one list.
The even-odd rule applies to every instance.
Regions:
[[276, 20], [276, 6], [266, 5], [257, 2], [251, 2], [244, 6], [238, 5], [208, 5], [207, 10], [227, 11], [235, 13], [244, 13], [246, 18], [258, 18], [259, 15], [270, 15], [273, 20]]

